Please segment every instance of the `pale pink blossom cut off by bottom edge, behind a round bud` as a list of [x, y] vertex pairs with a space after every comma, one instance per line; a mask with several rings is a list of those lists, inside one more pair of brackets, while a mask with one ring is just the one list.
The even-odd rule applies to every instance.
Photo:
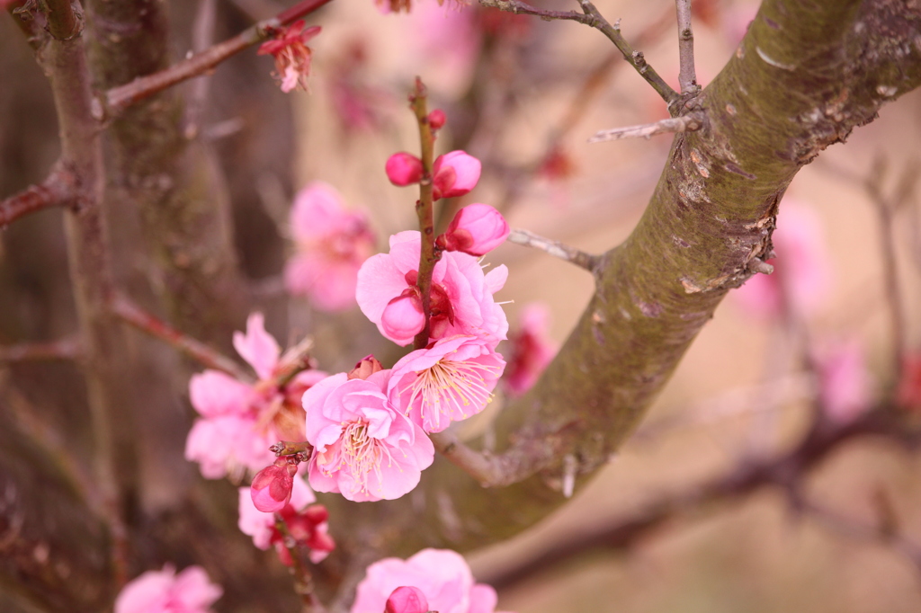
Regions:
[[467, 561], [450, 549], [423, 549], [408, 560], [386, 558], [367, 567], [351, 613], [380, 613], [399, 587], [415, 587], [438, 613], [494, 613], [495, 590], [474, 583]]

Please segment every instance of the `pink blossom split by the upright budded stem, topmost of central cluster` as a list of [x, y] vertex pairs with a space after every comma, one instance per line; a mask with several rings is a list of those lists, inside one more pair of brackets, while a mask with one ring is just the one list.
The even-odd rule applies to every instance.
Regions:
[[[414, 317], [414, 313], [422, 313], [415, 285], [420, 249], [418, 232], [400, 232], [391, 237], [390, 253], [368, 258], [358, 271], [356, 298], [362, 313], [377, 324], [381, 334], [403, 346], [422, 329], [422, 319]], [[493, 294], [505, 284], [507, 274], [505, 266], [484, 274], [476, 258], [445, 252], [432, 274], [430, 338], [464, 334], [493, 342], [505, 339], [508, 322]], [[394, 302], [397, 298], [404, 299]], [[385, 325], [382, 320], [388, 307], [398, 309], [398, 313], [389, 313]], [[407, 318], [408, 325], [397, 326], [398, 315]]]

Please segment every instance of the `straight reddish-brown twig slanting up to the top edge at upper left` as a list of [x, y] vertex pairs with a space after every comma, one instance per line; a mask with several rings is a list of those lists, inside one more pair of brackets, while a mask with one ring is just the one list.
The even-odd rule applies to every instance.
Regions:
[[204, 75], [217, 64], [224, 62], [257, 42], [262, 42], [275, 29], [304, 17], [328, 2], [330, 0], [303, 0], [297, 5], [282, 11], [277, 16], [260, 21], [251, 26], [251, 28], [243, 30], [232, 39], [218, 42], [204, 52], [195, 53], [192, 57], [173, 64], [169, 68], [152, 75], [139, 76], [134, 81], [123, 86], [112, 87], [104, 95], [105, 110], [100, 109], [99, 114], [102, 115], [104, 112], [110, 114], [119, 113], [134, 103], [156, 94], [158, 91], [172, 87], [193, 76]]

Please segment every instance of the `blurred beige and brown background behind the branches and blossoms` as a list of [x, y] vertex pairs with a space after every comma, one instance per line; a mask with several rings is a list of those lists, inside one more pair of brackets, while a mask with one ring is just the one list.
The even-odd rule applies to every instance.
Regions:
[[[214, 11], [214, 40], [284, 6], [272, 0], [202, 4]], [[175, 58], [192, 46], [198, 5], [171, 3]], [[693, 6], [697, 76], [705, 87], [735, 50], [757, 3], [695, 0]], [[610, 21], [620, 18], [627, 40], [677, 86], [672, 2], [600, 0], [598, 7]], [[392, 233], [414, 227], [414, 191], [393, 187], [383, 165], [395, 151], [417, 151], [406, 104], [415, 75], [429, 87], [430, 108], [448, 116], [437, 153], [461, 148], [484, 166], [471, 194], [443, 204], [442, 223], [450, 220], [449, 207], [486, 202], [503, 210], [513, 227], [600, 253], [624, 240], [643, 213], [670, 137], [587, 140], [599, 130], [662, 119], [667, 111], [600, 32], [435, 0], [415, 3], [408, 15], [386, 14], [373, 0], [339, 0], [309, 24], [322, 26], [311, 42], [309, 94], [280, 92], [269, 75], [271, 60], [252, 51], [220, 66], [204, 94], [196, 90], [201, 79], [183, 91], [199, 107], [198, 138], [219, 162], [239, 263], [256, 288], [256, 306], [282, 344], [314, 335], [322, 369], [348, 368], [371, 351], [367, 347], [385, 364], [385, 356], [398, 354], [376, 340], [357, 309], [326, 314], [277, 291], [295, 249], [288, 210], [298, 189], [322, 180], [349, 206], [367, 211], [379, 249], [386, 250]], [[6, 195], [40, 181], [58, 155], [49, 87], [6, 16], [0, 18], [0, 84], [0, 194]], [[688, 504], [629, 547], [547, 563], [524, 577], [507, 574], [555, 543], [642, 515], [650, 504], [692, 492], [746, 458], [795, 445], [818, 405], [833, 411], [830, 419], [846, 421], [892, 397], [900, 385], [894, 352], [921, 354], [919, 131], [915, 92], [799, 173], [778, 217], [776, 278], [759, 276], [754, 286], [730, 293], [638, 432], [572, 503], [519, 538], [469, 557], [478, 580], [499, 589], [500, 608], [921, 610], [921, 461], [869, 437], [841, 445], [802, 483], [821, 510], [797, 509], [785, 492], [772, 489], [726, 504]], [[134, 232], [112, 227], [124, 254], [120, 279], [138, 287], [143, 300], [137, 277], [144, 276], [145, 262], [131, 254]], [[889, 256], [895, 285], [886, 281]], [[564, 341], [592, 292], [590, 275], [513, 244], [488, 260], [509, 268], [497, 299], [509, 301], [512, 327], [522, 309], [542, 303], [549, 342]], [[897, 327], [893, 287], [902, 311]], [[5, 229], [0, 343], [51, 341], [75, 329], [60, 212]], [[134, 351], [169, 352], [140, 337]], [[145, 400], [153, 407], [141, 417], [153, 433], [153, 442], [141, 442], [149, 445], [142, 462], [149, 514], [175, 503], [178, 482], [195, 479], [195, 468], [182, 459], [193, 417], [187, 382], [171, 378], [155, 399]], [[139, 395], [156, 387], [136, 385]], [[2, 411], [18, 405], [20, 412], [38, 412], [52, 430], [68, 433], [76, 455], [88, 457], [84, 393], [72, 364], [0, 364]], [[467, 429], [481, 430], [482, 422]], [[249, 546], [248, 539], [239, 541], [240, 548]], [[218, 610], [228, 607], [227, 597]]]

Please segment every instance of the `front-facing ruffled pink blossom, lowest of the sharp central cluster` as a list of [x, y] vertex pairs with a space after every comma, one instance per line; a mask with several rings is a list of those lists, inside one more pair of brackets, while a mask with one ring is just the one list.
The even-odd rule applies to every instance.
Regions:
[[387, 399], [390, 377], [390, 370], [367, 379], [340, 373], [304, 394], [315, 491], [342, 492], [355, 502], [392, 500], [413, 490], [431, 465], [432, 442]]

